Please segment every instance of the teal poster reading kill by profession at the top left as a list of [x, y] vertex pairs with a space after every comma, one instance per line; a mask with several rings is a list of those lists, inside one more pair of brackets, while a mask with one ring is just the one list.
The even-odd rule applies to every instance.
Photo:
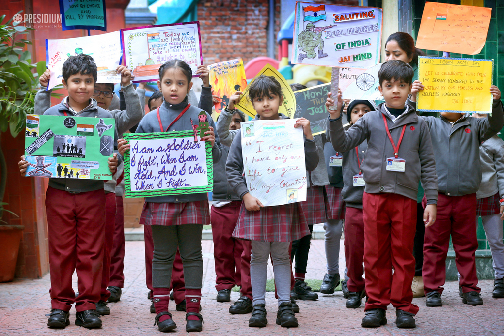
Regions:
[[107, 31], [105, 0], [59, 0], [62, 30], [99, 29]]

